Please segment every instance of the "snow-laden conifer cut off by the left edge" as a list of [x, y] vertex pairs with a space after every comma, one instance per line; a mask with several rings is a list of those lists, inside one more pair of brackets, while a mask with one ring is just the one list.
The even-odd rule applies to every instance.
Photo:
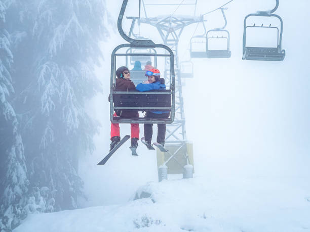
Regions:
[[23, 217], [28, 179], [17, 117], [9, 102], [14, 94], [10, 74], [13, 55], [5, 13], [0, 2], [0, 231], [11, 231]]

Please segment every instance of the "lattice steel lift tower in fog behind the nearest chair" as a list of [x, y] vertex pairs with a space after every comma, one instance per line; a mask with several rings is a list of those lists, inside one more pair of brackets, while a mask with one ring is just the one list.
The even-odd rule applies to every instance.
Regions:
[[[184, 104], [183, 104], [183, 94], [182, 94], [182, 80], [181, 76], [178, 75], [179, 72], [179, 57], [178, 57], [178, 42], [179, 38], [181, 36], [181, 33], [183, 29], [193, 23], [199, 23], [203, 22], [203, 16], [195, 17], [195, 16], [177, 16], [177, 15], [167, 15], [167, 16], [158, 16], [158, 17], [147, 17], [146, 15], [146, 6], [160, 6], [160, 5], [176, 5], [177, 7], [182, 4], [144, 4], [144, 1], [142, 0], [142, 6], [145, 12], [145, 18], [140, 18], [140, 23], [149, 24], [151, 26], [154, 26], [158, 29], [159, 34], [161, 35], [161, 38], [163, 39], [163, 44], [170, 47], [170, 49], [174, 53], [175, 58], [175, 120], [172, 124], [167, 124], [167, 132], [166, 132], [166, 141], [165, 141], [165, 147], [170, 152], [170, 157], [165, 157], [165, 160], [162, 160], [162, 164], [164, 164], [164, 169], [166, 170], [161, 171], [161, 167], [159, 167], [159, 181], [162, 179], [167, 179], [167, 166], [166, 163], [168, 163], [170, 160], [174, 160], [176, 163], [179, 164], [179, 167], [183, 168], [183, 178], [189, 178], [192, 177], [192, 171], [186, 170], [186, 166], [192, 165], [190, 161], [192, 161], [192, 145], [187, 143], [187, 137], [186, 137], [186, 130], [185, 130], [185, 115], [184, 115]], [[185, 5], [185, 4], [184, 4]], [[195, 7], [197, 6], [197, 0], [195, 3], [192, 4], [186, 4], [186, 5], [192, 5]], [[194, 14], [195, 15], [195, 14]], [[167, 81], [169, 81], [169, 59], [165, 59], [165, 72], [164, 77]], [[190, 157], [191, 155], [191, 157]], [[185, 160], [184, 163], [181, 164], [180, 160], [176, 159], [176, 156], [181, 156], [183, 160]], [[174, 159], [172, 159], [174, 158]], [[158, 157], [159, 159], [159, 157]], [[168, 159], [168, 160], [167, 160]], [[158, 164], [160, 161], [158, 160]], [[177, 165], [178, 165], [177, 164]], [[165, 167], [166, 166], [166, 167]], [[177, 174], [174, 172], [169, 173], [168, 168], [168, 174]]]

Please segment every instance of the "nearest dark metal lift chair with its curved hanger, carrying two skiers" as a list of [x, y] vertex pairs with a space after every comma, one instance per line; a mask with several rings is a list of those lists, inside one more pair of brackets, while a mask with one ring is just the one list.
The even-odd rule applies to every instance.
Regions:
[[[111, 74], [110, 74], [110, 121], [112, 123], [172, 123], [175, 114], [175, 76], [174, 76], [174, 54], [172, 50], [164, 44], [155, 44], [152, 40], [138, 40], [127, 36], [122, 28], [122, 20], [126, 9], [128, 0], [123, 1], [123, 5], [118, 18], [118, 29], [121, 36], [129, 42], [129, 44], [120, 44], [116, 47], [111, 54]], [[122, 66], [116, 64], [118, 56], [137, 56], [143, 57], [145, 53], [118, 53], [120, 49], [133, 48], [133, 49], [156, 49], [161, 48], [165, 50], [164, 54], [148, 54], [154, 57], [169, 57], [170, 59], [170, 72], [169, 72], [169, 89], [156, 90], [156, 91], [117, 91], [115, 89], [115, 71], [117, 67]], [[123, 118], [114, 117], [115, 110], [159, 110], [170, 111], [169, 118]]]

